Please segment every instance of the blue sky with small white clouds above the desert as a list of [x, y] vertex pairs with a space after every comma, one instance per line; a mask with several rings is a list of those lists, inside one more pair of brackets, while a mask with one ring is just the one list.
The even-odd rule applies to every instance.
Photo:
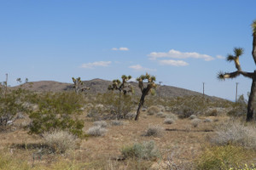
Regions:
[[254, 71], [255, 0], [0, 0], [0, 82], [72, 82], [148, 72], [156, 82], [235, 100], [251, 79], [219, 81], [236, 71], [225, 60], [244, 48]]

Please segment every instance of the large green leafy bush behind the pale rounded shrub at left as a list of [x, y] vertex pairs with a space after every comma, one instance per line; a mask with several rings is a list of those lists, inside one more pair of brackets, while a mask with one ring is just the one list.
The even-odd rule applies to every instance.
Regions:
[[67, 130], [77, 136], [83, 135], [84, 122], [78, 120], [81, 95], [75, 93], [42, 94], [38, 99], [38, 111], [32, 111], [30, 133]]

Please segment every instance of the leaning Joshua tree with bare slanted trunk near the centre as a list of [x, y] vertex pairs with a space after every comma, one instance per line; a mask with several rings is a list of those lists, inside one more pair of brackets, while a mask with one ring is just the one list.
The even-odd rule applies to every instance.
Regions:
[[[148, 80], [147, 87], [144, 87], [144, 84], [143, 84], [144, 80]], [[138, 120], [139, 115], [140, 115], [140, 111], [141, 111], [141, 109], [144, 105], [145, 97], [149, 94], [149, 92], [151, 94], [154, 94], [154, 88], [156, 88], [156, 84], [154, 83], [155, 82], [155, 77], [148, 75], [148, 73], [146, 73], [146, 75], [142, 75], [141, 77], [137, 77], [137, 82], [138, 82], [138, 87], [142, 91], [142, 96], [141, 96], [141, 99], [140, 99], [140, 103], [137, 107], [137, 115], [135, 117], [136, 121]]]

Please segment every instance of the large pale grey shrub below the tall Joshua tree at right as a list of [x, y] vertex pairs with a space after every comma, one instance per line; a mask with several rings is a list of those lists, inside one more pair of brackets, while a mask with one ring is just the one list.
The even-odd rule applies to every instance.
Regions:
[[256, 149], [256, 127], [230, 121], [217, 128], [211, 141], [214, 144], [236, 144]]

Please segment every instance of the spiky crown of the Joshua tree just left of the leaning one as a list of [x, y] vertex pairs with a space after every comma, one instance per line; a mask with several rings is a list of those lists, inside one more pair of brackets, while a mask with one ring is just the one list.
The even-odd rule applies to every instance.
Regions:
[[119, 79], [115, 79], [112, 81], [112, 84], [108, 86], [108, 90], [119, 90], [119, 96], [121, 93], [127, 94], [127, 93], [132, 93], [133, 88], [130, 84], [126, 85], [127, 81], [131, 79], [131, 76], [125, 76], [123, 75], [122, 77], [122, 82], [119, 81]]

